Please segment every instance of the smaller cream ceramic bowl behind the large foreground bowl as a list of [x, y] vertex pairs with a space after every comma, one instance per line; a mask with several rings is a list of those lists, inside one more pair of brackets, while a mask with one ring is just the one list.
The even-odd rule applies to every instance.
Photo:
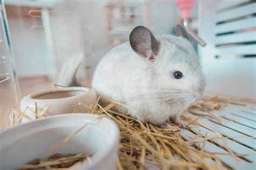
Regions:
[[[84, 103], [85, 105], [96, 104], [97, 94], [95, 90], [85, 87], [66, 87], [37, 91], [22, 98], [21, 111], [24, 112], [26, 107], [29, 107], [26, 109], [25, 114], [35, 119], [36, 102], [38, 114], [48, 105], [51, 105], [47, 110], [48, 116], [69, 114], [73, 112], [75, 104], [78, 112], [85, 113], [88, 111], [87, 108], [79, 105], [79, 103]], [[27, 121], [23, 118], [23, 122]]]

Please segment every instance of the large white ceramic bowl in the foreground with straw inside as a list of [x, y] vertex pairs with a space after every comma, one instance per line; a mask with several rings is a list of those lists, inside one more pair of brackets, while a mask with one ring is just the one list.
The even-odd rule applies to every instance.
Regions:
[[[17, 169], [44, 158], [63, 139], [98, 115], [65, 114], [31, 121], [0, 133], [0, 169]], [[78, 169], [116, 169], [119, 129], [109, 118], [86, 126], [63, 145], [58, 153], [92, 154]]]

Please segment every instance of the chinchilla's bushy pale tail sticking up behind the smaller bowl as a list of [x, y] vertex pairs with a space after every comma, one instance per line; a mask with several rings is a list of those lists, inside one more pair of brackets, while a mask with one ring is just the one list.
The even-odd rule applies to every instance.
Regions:
[[83, 53], [78, 52], [64, 62], [60, 69], [57, 84], [60, 86], [80, 86], [76, 79], [76, 74], [80, 63], [83, 60]]

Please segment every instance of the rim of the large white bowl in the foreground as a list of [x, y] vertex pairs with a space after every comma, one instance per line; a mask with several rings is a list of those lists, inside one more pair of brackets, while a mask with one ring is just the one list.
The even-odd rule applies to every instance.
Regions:
[[[16, 125], [15, 127], [12, 127], [12, 128], [9, 128], [9, 129], [6, 129], [6, 130], [3, 130], [0, 132], [0, 138], [1, 138], [1, 141], [3, 142], [3, 143], [1, 142], [2, 144], [0, 147], [0, 152], [1, 152], [2, 148], [9, 145], [5, 141], [3, 141], [4, 138], [8, 138], [8, 136], [9, 136], [9, 138], [12, 137], [12, 139], [14, 136], [16, 136], [16, 138], [14, 138], [12, 141], [18, 140], [19, 138], [21, 138], [21, 136], [26, 136], [26, 134], [35, 132], [37, 129], [40, 129], [40, 127], [43, 128], [44, 125], [49, 125], [48, 122], [50, 122], [50, 123], [56, 122], [55, 119], [62, 118], [62, 119], [69, 120], [71, 117], [72, 118], [77, 117], [78, 122], [81, 122], [81, 119], [83, 119], [83, 121], [85, 121], [85, 123], [86, 123], [87, 121], [92, 121], [93, 119], [97, 118], [98, 116], [99, 115], [88, 114], [88, 113], [60, 114], [60, 115], [49, 116], [49, 117], [45, 117], [42, 119], [36, 119], [31, 122], [26, 122], [23, 124]], [[97, 164], [100, 164], [100, 162], [104, 161], [104, 159], [106, 159], [107, 157], [110, 157], [110, 155], [113, 154], [114, 150], [118, 150], [119, 128], [118, 128], [117, 124], [112, 119], [110, 119], [108, 117], [104, 117], [100, 121], [103, 121], [100, 123], [104, 123], [107, 126], [112, 127], [111, 131], [107, 131], [108, 134], [113, 133], [113, 138], [110, 139], [111, 145], [110, 145], [110, 147], [107, 146], [106, 150], [104, 150], [104, 151], [99, 150], [96, 153], [94, 153], [92, 155], [91, 159], [92, 160], [95, 159], [95, 160], [91, 161], [90, 163], [88, 161], [84, 161], [84, 162], [82, 162], [80, 167], [85, 166], [85, 165], [86, 165], [86, 167], [96, 166]], [[72, 125], [72, 123], [70, 125]], [[62, 126], [68, 126], [68, 124], [65, 124]], [[93, 126], [93, 124], [90, 126]], [[47, 127], [50, 128], [50, 126], [46, 126], [46, 129], [47, 129]], [[24, 129], [27, 131], [25, 132]], [[15, 135], [15, 133], [16, 133], [16, 135]], [[5, 140], [8, 140], [8, 139], [5, 139]]]

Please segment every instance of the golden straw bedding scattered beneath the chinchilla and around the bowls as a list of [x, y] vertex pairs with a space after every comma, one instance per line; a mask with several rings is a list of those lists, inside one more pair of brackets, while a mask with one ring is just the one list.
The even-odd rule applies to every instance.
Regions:
[[[78, 105], [87, 107], [92, 114], [102, 115], [99, 118], [105, 116], [111, 118], [119, 126], [120, 144], [119, 157], [117, 158], [118, 169], [147, 169], [149, 167], [160, 167], [161, 169], [223, 169], [224, 167], [229, 167], [216, 157], [218, 153], [206, 152], [205, 144], [206, 140], [213, 143], [212, 139], [223, 140], [225, 142], [225, 137], [222, 136], [221, 132], [216, 132], [211, 127], [200, 122], [200, 118], [207, 117], [221, 123], [222, 119], [214, 115], [211, 112], [212, 110], [223, 109], [228, 103], [246, 105], [243, 102], [244, 101], [236, 98], [205, 96], [203, 101], [197, 102], [184, 112], [182, 116], [182, 119], [188, 124], [187, 130], [197, 134], [194, 138], [190, 138], [186, 136], [186, 134], [181, 133], [171, 122], [169, 122], [169, 124], [173, 126], [172, 129], [161, 129], [151, 123], [143, 124], [138, 119], [111, 110], [111, 108], [117, 104], [122, 105], [121, 103], [113, 102], [106, 106], [101, 106], [98, 102], [96, 105], [87, 106], [83, 103], [78, 103]], [[47, 116], [49, 107], [45, 108], [40, 113], [37, 112], [36, 107], [36, 117], [42, 118]], [[17, 116], [14, 116], [12, 119], [13, 125], [18, 124], [21, 117], [31, 119], [16, 108], [12, 108], [11, 110], [17, 114]], [[76, 111], [77, 105], [74, 107], [74, 112]], [[198, 116], [198, 118], [194, 119], [187, 116], [187, 112]], [[206, 133], [204, 136], [201, 136], [193, 129], [194, 126], [203, 126], [214, 132], [215, 135], [207, 136]], [[78, 131], [71, 134], [65, 140], [69, 140], [78, 133]], [[65, 141], [57, 146], [55, 150], [48, 155], [48, 158], [54, 153], [57, 153], [58, 148], [64, 144]], [[241, 157], [241, 155], [233, 153], [227, 145], [224, 149], [232, 155], [234, 159]], [[72, 167], [68, 169], [72, 169]]]

